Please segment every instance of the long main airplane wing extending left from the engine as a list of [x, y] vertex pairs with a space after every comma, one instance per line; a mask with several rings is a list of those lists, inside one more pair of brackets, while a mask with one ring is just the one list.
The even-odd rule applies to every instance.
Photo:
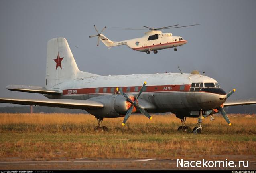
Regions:
[[0, 103], [13, 103], [19, 105], [39, 105], [48, 107], [61, 107], [70, 109], [99, 109], [104, 107], [103, 103], [89, 100], [71, 99], [15, 99], [0, 98]]

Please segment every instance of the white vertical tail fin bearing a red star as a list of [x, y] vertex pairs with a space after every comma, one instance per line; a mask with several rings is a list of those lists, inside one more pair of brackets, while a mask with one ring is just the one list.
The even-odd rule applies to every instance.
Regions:
[[53, 38], [47, 43], [46, 82], [45, 88], [72, 80], [80, 76], [98, 76], [79, 71], [69, 44], [65, 38]]

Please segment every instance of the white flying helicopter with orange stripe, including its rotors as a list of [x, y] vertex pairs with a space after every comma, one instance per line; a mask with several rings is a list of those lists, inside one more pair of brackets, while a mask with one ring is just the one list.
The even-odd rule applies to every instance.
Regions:
[[146, 52], [147, 54], [150, 54], [150, 52], [153, 51], [154, 54], [157, 54], [158, 50], [173, 48], [173, 47], [174, 47], [174, 51], [177, 51], [178, 46], [182, 46], [183, 44], [187, 43], [187, 40], [183, 39], [181, 36], [173, 36], [173, 34], [170, 32], [163, 33], [161, 30], [183, 28], [183, 27], [195, 26], [195, 25], [199, 25], [199, 24], [193, 24], [193, 25], [187, 25], [187, 26], [179, 26], [179, 24], [176, 24], [173, 26], [166, 26], [162, 28], [150, 28], [148, 26], [142, 25], [142, 27], [147, 29], [112, 27], [112, 29], [121, 29], [121, 30], [148, 30], [147, 32], [145, 32], [145, 35], [140, 38], [133, 38], [133, 39], [123, 40], [118, 42], [111, 41], [110, 39], [108, 39], [106, 36], [102, 34], [102, 32], [107, 28], [106, 26], [102, 29], [101, 32], [98, 32], [96, 26], [94, 25], [94, 28], [97, 34], [93, 36], [89, 36], [89, 38], [97, 36], [98, 37], [97, 46], [99, 46], [99, 41], [101, 40], [109, 49], [114, 46], [126, 45], [133, 50]]

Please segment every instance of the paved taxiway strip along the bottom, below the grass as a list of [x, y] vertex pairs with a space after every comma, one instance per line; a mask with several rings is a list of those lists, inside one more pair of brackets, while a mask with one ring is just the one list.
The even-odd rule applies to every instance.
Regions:
[[[58, 160], [58, 161], [0, 161], [0, 170], [22, 169], [22, 170], [57, 170], [57, 169], [213, 169], [213, 168], [177, 168], [177, 160], [165, 159], [96, 159], [88, 158]], [[220, 168], [218, 168], [220, 169]], [[222, 169], [222, 168], [221, 168]], [[228, 168], [232, 170], [232, 168]], [[250, 161], [249, 168], [256, 169], [256, 162]]]

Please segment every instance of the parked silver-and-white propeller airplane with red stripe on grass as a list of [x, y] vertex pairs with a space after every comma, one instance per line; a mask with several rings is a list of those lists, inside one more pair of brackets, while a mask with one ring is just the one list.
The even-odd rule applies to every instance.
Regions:
[[95, 130], [108, 130], [101, 125], [104, 118], [124, 117], [125, 125], [132, 113], [152, 119], [150, 113], [172, 112], [181, 119], [179, 131], [189, 131], [185, 121], [191, 117], [198, 118], [193, 132], [201, 133], [204, 117], [220, 112], [231, 125], [223, 107], [256, 104], [256, 100], [227, 101], [235, 89], [227, 94], [216, 80], [197, 70], [114, 76], [80, 71], [65, 38], [48, 41], [44, 87], [9, 85], [7, 89], [40, 93], [48, 99], [0, 98], [1, 103], [83, 109], [97, 119]]

